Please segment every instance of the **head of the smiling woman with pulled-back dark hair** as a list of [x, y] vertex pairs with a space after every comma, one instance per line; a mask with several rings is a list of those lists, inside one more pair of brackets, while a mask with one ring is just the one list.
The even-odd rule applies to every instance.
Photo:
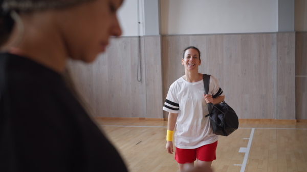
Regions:
[[181, 60], [185, 70], [197, 70], [201, 65], [200, 54], [196, 49], [187, 49], [184, 53], [184, 59]]

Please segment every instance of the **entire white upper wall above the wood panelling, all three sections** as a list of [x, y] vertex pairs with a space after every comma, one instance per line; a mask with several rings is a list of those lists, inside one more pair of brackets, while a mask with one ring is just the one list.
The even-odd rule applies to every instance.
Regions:
[[[124, 0], [122, 36], [144, 35], [144, 0]], [[161, 34], [278, 32], [278, 0], [160, 0]], [[150, 21], [145, 21], [150, 22]], [[307, 31], [307, 1], [295, 0], [295, 31]]]

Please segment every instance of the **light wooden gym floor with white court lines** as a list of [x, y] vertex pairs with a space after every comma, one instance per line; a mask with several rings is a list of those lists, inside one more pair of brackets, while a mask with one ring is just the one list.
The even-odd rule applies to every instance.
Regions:
[[[167, 121], [98, 121], [129, 171], [178, 171], [166, 152]], [[240, 122], [220, 136], [214, 171], [307, 171], [307, 123]]]

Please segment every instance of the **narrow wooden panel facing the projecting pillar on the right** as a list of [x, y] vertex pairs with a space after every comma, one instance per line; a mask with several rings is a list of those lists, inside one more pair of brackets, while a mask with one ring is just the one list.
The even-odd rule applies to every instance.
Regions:
[[295, 119], [295, 33], [277, 34], [276, 119]]

